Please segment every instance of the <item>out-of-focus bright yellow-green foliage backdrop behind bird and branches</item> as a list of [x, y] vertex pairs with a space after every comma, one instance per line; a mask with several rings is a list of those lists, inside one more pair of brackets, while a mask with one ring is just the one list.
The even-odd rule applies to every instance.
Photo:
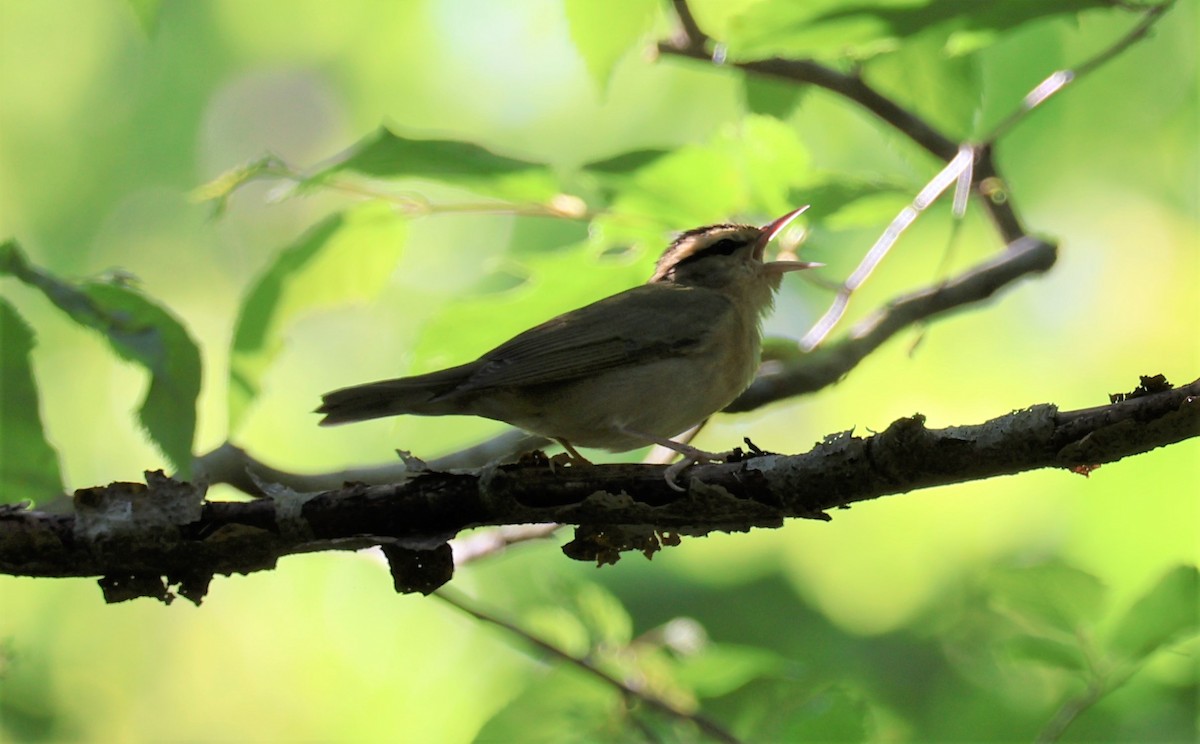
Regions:
[[[734, 5], [749, 4], [696, 4], [714, 32]], [[198, 452], [228, 436], [223, 370], [241, 298], [283, 246], [353, 204], [323, 191], [282, 198], [277, 185], [254, 184], [210, 220], [208, 205], [188, 199], [198, 185], [265, 152], [316, 164], [380, 124], [563, 172], [641, 148], [738, 140], [755, 126], [743, 80], [727, 70], [635, 49], [601, 90], [557, 0], [167, 1], [143, 17], [146, 28], [134, 8], [154, 6], [0, 0], [0, 238], [18, 239], [60, 276], [131, 271], [178, 313], [205, 364]], [[906, 94], [913, 60], [896, 62], [896, 95], [970, 136], [1050, 71], [1130, 25], [1127, 14], [1094, 12], [1004, 36], [979, 53], [977, 119], [962, 116], [949, 92]], [[1150, 38], [1002, 142], [998, 160], [1024, 218], [1062, 241], [1052, 272], [938, 322], [916, 352], [914, 335], [894, 340], [817, 396], [718, 418], [698, 444], [721, 449], [752, 436], [766, 449], [804, 451], [828, 433], [881, 430], [914, 412], [940, 427], [1040, 402], [1100, 404], [1140, 374], [1193, 379], [1196, 28], [1196, 2], [1181, 1]], [[822, 91], [785, 108], [782, 122], [815, 169], [916, 187], [937, 169]], [[703, 184], [696, 193], [686, 209], [700, 220], [775, 216], [708, 214]], [[904, 238], [856, 296], [853, 316], [930, 281], [947, 211], [935, 208]], [[377, 206], [354, 214], [395, 220]], [[814, 232], [811, 256], [841, 276], [884, 223]], [[648, 248], [596, 258], [563, 247], [584, 236], [580, 224], [548, 218], [410, 221], [377, 300], [322, 308], [288, 329], [236, 443], [274, 467], [317, 472], [384, 461], [397, 446], [433, 457], [500, 431], [458, 419], [319, 430], [308, 412], [323, 391], [462, 361], [648, 274]], [[996, 248], [972, 215], [954, 265]], [[0, 288], [37, 332], [42, 416], [67, 488], [166, 467], [131, 414], [143, 372], [26, 288], [11, 280]], [[790, 278], [769, 332], [798, 337], [827, 301]], [[527, 545], [462, 570], [455, 586], [570, 637], [577, 620], [552, 610], [574, 607], [569, 598], [599, 584], [628, 610], [635, 635], [691, 617], [715, 641], [803, 667], [797, 695], [835, 680], [886, 708], [916, 695], [901, 694], [906, 684], [920, 688], [919, 715], [880, 715], [888, 738], [988, 738], [989, 726], [1030, 738], [1069, 685], [1037, 677], [1019, 690], [1013, 680], [1026, 677], [1003, 670], [986, 682], [972, 677], [955, 664], [947, 626], [970, 613], [971, 587], [997, 566], [1066, 562], [1098, 576], [1120, 610], [1171, 565], [1195, 563], [1198, 455], [1188, 442], [1086, 479], [1038, 472], [922, 491], [838, 512], [828, 524], [686, 540], [653, 563], [632, 556], [602, 570], [569, 562], [554, 545]], [[0, 577], [0, 642], [6, 715], [24, 716], [6, 721], [7, 734], [47, 739], [469, 740], [523, 690], [562, 674], [437, 600], [394, 595], [385, 569], [359, 554], [287, 558], [271, 572], [217, 578], [199, 608], [104, 606], [90, 580]], [[1195, 650], [1157, 659], [1091, 724], [1081, 720], [1079, 736], [1105, 726], [1146, 740], [1189, 731]], [[996, 722], [1004, 716], [1016, 727]], [[929, 722], [940, 718], [956, 724]]]

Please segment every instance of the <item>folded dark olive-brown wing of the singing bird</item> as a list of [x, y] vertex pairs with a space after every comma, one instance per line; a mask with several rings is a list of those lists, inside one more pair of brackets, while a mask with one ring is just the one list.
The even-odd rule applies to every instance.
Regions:
[[702, 348], [732, 310], [722, 295], [643, 284], [552, 318], [496, 347], [454, 392], [566, 382]]

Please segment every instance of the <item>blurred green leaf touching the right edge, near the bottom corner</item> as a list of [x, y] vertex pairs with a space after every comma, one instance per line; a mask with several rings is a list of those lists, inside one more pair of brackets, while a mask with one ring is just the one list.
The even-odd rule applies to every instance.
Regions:
[[1114, 649], [1136, 661], [1163, 646], [1200, 632], [1200, 572], [1195, 566], [1171, 569], [1121, 618]]

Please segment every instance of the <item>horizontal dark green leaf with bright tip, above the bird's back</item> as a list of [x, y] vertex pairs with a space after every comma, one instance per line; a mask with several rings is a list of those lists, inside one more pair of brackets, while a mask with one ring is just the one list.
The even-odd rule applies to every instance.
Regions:
[[547, 200], [558, 191], [544, 163], [497, 155], [469, 142], [410, 139], [383, 127], [307, 182], [319, 184], [344, 172], [380, 179], [426, 179], [511, 199]]

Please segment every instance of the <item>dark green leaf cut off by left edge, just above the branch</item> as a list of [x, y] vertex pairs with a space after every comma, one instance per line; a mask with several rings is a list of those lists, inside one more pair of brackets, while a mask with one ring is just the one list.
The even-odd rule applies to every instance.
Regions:
[[62, 493], [59, 456], [46, 439], [29, 353], [34, 330], [0, 299], [0, 502]]

